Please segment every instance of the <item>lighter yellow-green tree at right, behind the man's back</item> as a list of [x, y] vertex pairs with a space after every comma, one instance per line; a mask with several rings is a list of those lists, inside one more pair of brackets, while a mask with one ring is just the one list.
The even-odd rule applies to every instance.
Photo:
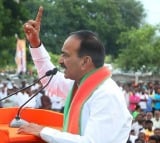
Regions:
[[157, 31], [159, 26], [144, 25], [121, 33], [118, 44], [126, 48], [116, 59], [117, 65], [124, 70], [160, 71], [160, 36]]

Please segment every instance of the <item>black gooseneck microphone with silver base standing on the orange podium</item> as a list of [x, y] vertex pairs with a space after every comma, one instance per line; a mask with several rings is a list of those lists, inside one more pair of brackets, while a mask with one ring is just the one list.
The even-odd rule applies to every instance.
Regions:
[[50, 83], [51, 79], [53, 78], [53, 75], [55, 75], [57, 73], [57, 71], [58, 71], [58, 69], [55, 68], [55, 69], [53, 69], [51, 71], [48, 71], [46, 73], [47, 75], [52, 75], [52, 76], [50, 77], [48, 82], [42, 88], [40, 88], [37, 92], [35, 92], [35, 94], [33, 94], [31, 98], [29, 98], [24, 104], [22, 104], [20, 106], [20, 108], [18, 109], [16, 117], [11, 121], [11, 123], [9, 125], [10, 127], [19, 128], [21, 125], [28, 124], [27, 121], [21, 119], [21, 117], [20, 117], [20, 113], [21, 113], [22, 108]]

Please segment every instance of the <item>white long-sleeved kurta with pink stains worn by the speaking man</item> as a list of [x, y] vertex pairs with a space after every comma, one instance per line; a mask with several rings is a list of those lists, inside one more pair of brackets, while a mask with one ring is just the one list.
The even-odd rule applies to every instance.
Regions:
[[[43, 45], [31, 48], [31, 54], [40, 77], [47, 70], [54, 68]], [[47, 89], [54, 95], [66, 97], [72, 85], [72, 80], [65, 79], [63, 73], [58, 72]], [[109, 78], [94, 91], [83, 106], [82, 135], [45, 127], [40, 136], [49, 143], [126, 143], [131, 122], [132, 117], [124, 95], [117, 84]]]

